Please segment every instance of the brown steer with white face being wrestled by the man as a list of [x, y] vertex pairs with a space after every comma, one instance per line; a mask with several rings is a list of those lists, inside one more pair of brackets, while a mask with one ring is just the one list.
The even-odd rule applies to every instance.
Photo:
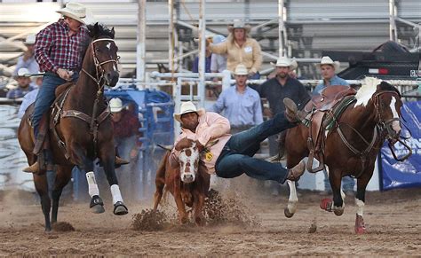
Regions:
[[200, 152], [195, 141], [184, 138], [179, 141], [176, 148], [180, 150], [179, 166], [171, 167], [171, 150], [165, 148], [165, 153], [159, 168], [156, 171], [154, 196], [154, 211], [163, 198], [165, 192], [171, 192], [174, 196], [179, 211], [179, 222], [187, 223], [187, 207], [194, 211], [195, 223], [204, 225], [203, 205], [204, 199], [209, 191], [211, 175], [206, 167], [200, 162]]

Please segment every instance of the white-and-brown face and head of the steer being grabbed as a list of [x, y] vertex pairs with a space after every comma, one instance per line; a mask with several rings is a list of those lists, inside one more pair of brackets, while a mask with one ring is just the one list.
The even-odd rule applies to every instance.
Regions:
[[195, 177], [199, 171], [200, 152], [195, 141], [183, 138], [176, 145], [179, 150], [180, 178], [183, 183], [195, 182]]

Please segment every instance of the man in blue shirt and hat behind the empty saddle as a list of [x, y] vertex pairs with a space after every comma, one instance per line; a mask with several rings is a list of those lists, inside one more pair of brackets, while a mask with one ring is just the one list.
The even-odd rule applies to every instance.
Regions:
[[333, 61], [330, 57], [322, 57], [319, 67], [322, 73], [323, 80], [317, 84], [313, 93], [320, 93], [324, 88], [330, 85], [346, 85], [349, 86], [349, 83], [344, 79], [336, 75], [339, 69], [340, 63], [338, 61]]

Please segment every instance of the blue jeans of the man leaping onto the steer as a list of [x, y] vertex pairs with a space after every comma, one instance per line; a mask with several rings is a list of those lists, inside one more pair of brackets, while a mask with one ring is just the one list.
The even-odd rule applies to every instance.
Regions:
[[283, 184], [288, 176], [288, 169], [280, 163], [258, 160], [252, 156], [258, 152], [260, 143], [267, 137], [280, 133], [297, 124], [285, 118], [284, 113], [278, 113], [273, 119], [235, 134], [222, 149], [215, 164], [217, 176], [233, 178], [245, 173], [259, 180], [274, 180]]

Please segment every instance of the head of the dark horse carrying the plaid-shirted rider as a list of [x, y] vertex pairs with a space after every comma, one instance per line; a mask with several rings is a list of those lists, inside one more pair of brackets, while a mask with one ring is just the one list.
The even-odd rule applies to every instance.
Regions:
[[114, 41], [114, 27], [108, 29], [96, 23], [95, 25], [88, 25], [88, 30], [92, 38], [88, 51], [91, 49], [96, 79], [98, 82], [103, 79], [108, 86], [114, 87], [119, 78], [117, 68], [119, 57], [117, 56], [118, 48]]

